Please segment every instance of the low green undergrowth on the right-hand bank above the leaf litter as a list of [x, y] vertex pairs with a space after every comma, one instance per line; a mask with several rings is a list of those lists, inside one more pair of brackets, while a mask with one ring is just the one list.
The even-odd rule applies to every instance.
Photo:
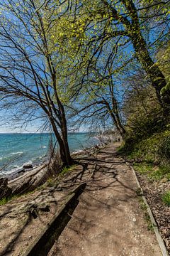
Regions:
[[128, 139], [118, 153], [132, 161], [135, 171], [149, 181], [170, 181], [170, 131], [152, 134], [144, 139]]

